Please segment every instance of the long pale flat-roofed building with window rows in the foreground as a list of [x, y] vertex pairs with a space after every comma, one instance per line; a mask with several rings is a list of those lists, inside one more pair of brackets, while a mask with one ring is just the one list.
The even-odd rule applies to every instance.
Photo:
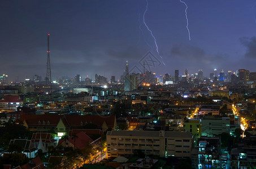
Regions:
[[109, 131], [107, 157], [133, 154], [136, 149], [146, 155], [190, 157], [193, 135], [177, 131]]

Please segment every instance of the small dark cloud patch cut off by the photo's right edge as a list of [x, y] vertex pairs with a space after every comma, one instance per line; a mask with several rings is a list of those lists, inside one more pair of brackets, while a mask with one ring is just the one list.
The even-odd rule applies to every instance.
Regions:
[[246, 47], [245, 57], [256, 58], [256, 37], [242, 37], [240, 42]]

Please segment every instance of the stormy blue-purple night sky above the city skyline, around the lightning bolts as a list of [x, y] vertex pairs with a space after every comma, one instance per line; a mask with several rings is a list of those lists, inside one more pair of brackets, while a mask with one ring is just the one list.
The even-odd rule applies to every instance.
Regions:
[[[120, 77], [125, 60], [141, 70], [139, 61], [151, 51], [160, 64], [157, 75], [213, 69], [256, 72], [256, 1], [0, 1], [0, 74], [11, 81], [45, 77], [47, 33], [53, 80], [94, 74]], [[141, 27], [141, 29], [140, 29]], [[151, 48], [149, 46], [151, 46]], [[164, 64], [166, 65], [164, 65]]]

